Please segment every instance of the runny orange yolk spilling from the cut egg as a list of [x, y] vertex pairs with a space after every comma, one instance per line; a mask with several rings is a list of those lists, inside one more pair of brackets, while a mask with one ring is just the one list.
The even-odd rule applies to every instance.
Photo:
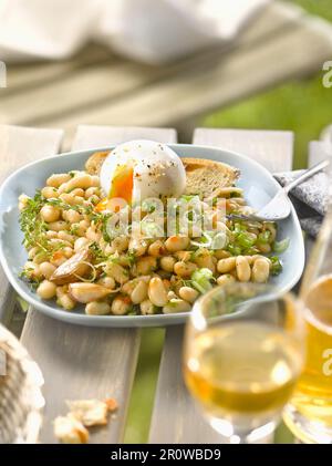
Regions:
[[121, 198], [128, 204], [132, 203], [134, 187], [134, 169], [127, 165], [121, 165], [116, 168], [112, 183], [108, 197], [102, 199], [95, 207], [96, 211], [107, 209], [110, 199]]

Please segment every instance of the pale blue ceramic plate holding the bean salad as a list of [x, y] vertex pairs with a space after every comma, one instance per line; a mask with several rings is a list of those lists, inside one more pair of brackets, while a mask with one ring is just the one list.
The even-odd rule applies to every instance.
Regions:
[[[270, 173], [257, 162], [240, 154], [216, 147], [189, 144], [169, 145], [180, 157], [208, 158], [228, 163], [241, 170], [238, 186], [245, 189], [247, 201], [255, 208], [262, 207], [280, 189]], [[44, 158], [29, 164], [13, 173], [0, 189], [0, 260], [4, 272], [17, 292], [39, 311], [54, 319], [92, 327], [164, 327], [181, 323], [186, 313], [157, 315], [86, 315], [83, 307], [65, 311], [53, 301], [42, 301], [30, 290], [29, 284], [18, 278], [27, 261], [27, 251], [22, 246], [19, 228], [18, 197], [24, 193], [33, 196], [35, 189], [44, 186], [45, 179], [53, 173], [83, 169], [87, 157], [96, 148], [73, 152]], [[290, 290], [302, 275], [304, 266], [304, 245], [302, 231], [294, 209], [288, 219], [279, 224], [279, 239], [290, 238], [290, 246], [281, 255], [283, 271], [271, 279], [280, 292]]]

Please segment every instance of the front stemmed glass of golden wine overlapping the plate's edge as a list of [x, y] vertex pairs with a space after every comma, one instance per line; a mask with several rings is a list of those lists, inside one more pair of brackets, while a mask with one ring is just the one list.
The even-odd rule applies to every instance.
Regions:
[[224, 442], [259, 443], [273, 433], [303, 361], [302, 306], [292, 294], [238, 282], [194, 306], [185, 382]]

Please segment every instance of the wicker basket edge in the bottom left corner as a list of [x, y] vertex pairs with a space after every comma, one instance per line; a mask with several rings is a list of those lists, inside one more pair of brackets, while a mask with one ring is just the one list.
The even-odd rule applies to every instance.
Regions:
[[0, 444], [37, 443], [44, 398], [42, 373], [0, 324]]

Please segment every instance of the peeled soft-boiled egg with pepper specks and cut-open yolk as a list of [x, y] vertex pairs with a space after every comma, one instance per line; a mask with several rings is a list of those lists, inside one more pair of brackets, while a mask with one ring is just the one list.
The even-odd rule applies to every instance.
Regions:
[[123, 198], [128, 204], [149, 197], [178, 197], [186, 187], [186, 170], [167, 145], [132, 141], [107, 155], [101, 169], [101, 186], [108, 199]]

